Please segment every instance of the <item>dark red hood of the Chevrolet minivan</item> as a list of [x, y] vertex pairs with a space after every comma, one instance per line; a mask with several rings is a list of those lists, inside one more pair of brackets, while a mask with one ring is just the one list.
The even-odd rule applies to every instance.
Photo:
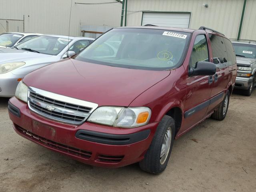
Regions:
[[68, 59], [28, 74], [23, 82], [99, 106], [129, 106], [169, 74], [170, 71], [119, 68]]

